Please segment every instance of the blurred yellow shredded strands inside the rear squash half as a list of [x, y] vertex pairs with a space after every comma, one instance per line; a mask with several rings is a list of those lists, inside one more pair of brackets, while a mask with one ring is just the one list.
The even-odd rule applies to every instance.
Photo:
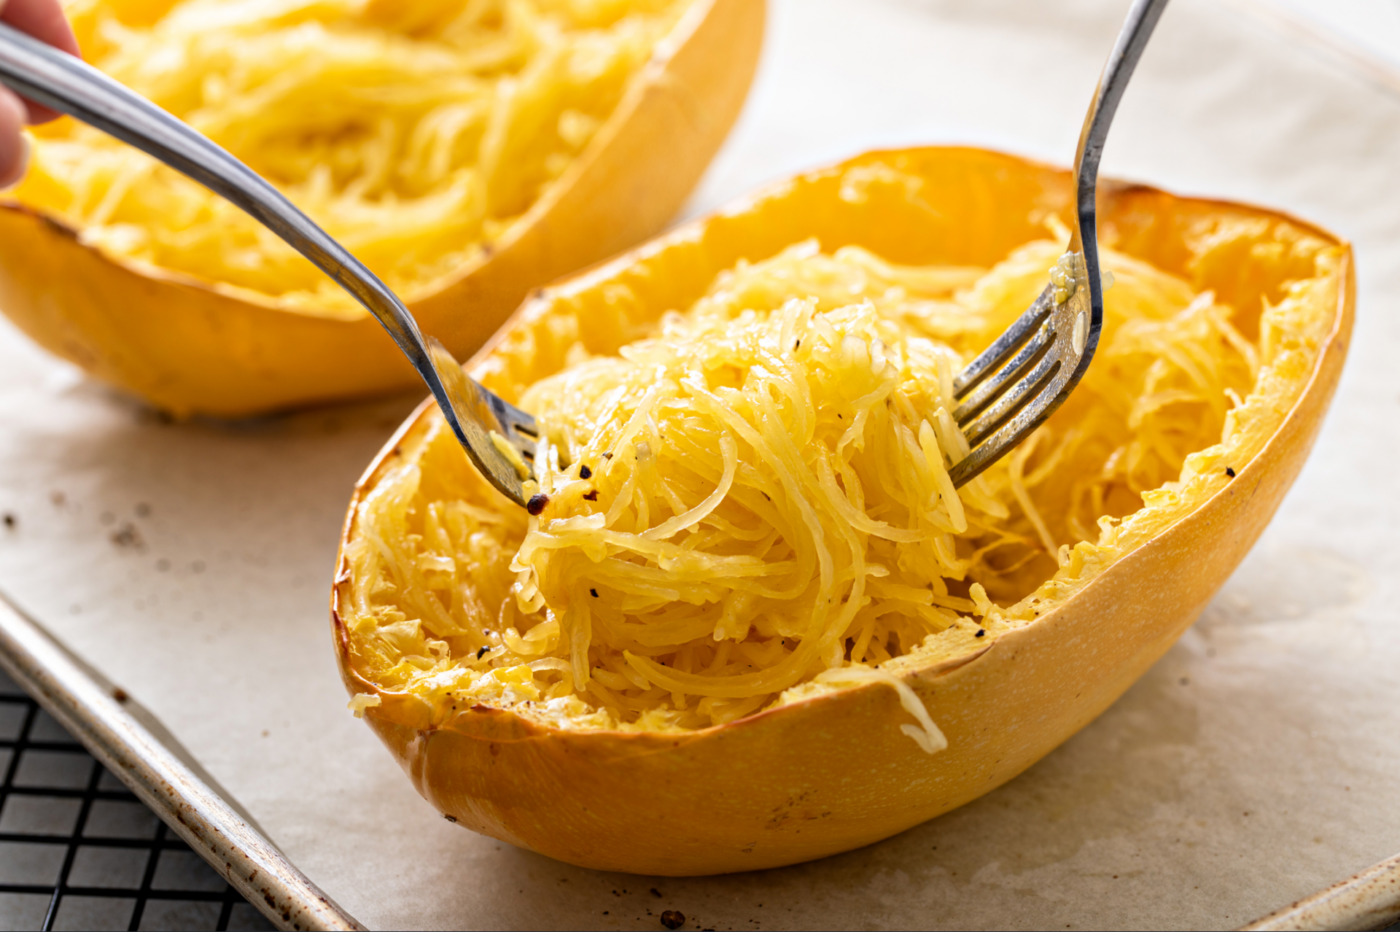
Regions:
[[[88, 62], [277, 185], [399, 294], [574, 161], [686, 0], [76, 0]], [[237, 207], [98, 130], [36, 130], [20, 200], [109, 255], [358, 315]]]

